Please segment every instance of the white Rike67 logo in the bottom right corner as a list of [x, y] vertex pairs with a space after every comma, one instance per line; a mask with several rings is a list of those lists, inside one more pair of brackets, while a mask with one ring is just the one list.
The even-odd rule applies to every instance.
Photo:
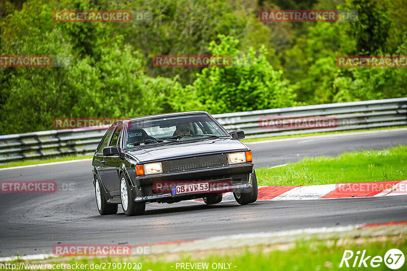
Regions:
[[384, 257], [369, 256], [366, 250], [363, 250], [362, 255], [359, 250], [356, 253], [345, 250], [339, 267], [379, 267], [383, 262], [390, 269], [399, 269], [404, 264], [404, 254], [399, 249], [390, 249]]

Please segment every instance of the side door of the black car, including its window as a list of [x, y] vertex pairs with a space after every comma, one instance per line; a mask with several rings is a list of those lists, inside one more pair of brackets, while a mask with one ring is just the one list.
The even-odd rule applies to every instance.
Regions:
[[[113, 135], [107, 146], [120, 146], [119, 142], [122, 130], [122, 125], [115, 126]], [[120, 190], [119, 169], [117, 167], [118, 159], [119, 154], [104, 156], [103, 181], [106, 189], [113, 193], [112, 195], [115, 194], [114, 192], [119, 192]]]

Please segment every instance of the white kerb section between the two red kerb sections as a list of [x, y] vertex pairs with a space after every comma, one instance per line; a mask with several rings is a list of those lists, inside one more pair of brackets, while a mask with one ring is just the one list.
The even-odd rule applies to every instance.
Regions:
[[273, 200], [317, 199], [325, 196], [341, 185], [343, 184], [299, 186], [276, 196], [275, 198], [273, 198]]

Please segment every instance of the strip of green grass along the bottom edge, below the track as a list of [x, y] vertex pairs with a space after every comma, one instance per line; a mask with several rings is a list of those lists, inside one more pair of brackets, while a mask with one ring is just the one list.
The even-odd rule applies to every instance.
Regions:
[[[69, 264], [106, 264], [106, 270], [130, 270], [128, 268], [113, 269], [107, 268], [110, 263], [131, 262], [142, 264], [141, 270], [173, 271], [181, 270], [176, 268], [177, 263], [209, 263], [207, 270], [214, 270], [213, 263], [230, 263], [230, 270], [236, 271], [261, 271], [261, 270], [347, 270], [352, 267], [339, 267], [345, 250], [352, 250], [355, 254], [348, 263], [352, 266], [357, 251], [366, 250], [365, 256], [384, 257], [389, 249], [398, 248], [405, 254], [407, 247], [407, 237], [403, 235], [381, 238], [358, 238], [339, 239], [324, 241], [298, 241], [286, 246], [258, 246], [243, 249], [229, 249], [226, 251], [212, 251], [210, 254], [202, 252], [190, 252], [176, 255], [152, 255], [145, 258], [87, 258], [81, 260], [60, 258], [46, 260], [47, 263], [69, 263]], [[43, 261], [44, 262], [44, 261]], [[18, 266], [18, 262], [14, 262]], [[34, 263], [31, 261], [31, 263]], [[404, 263], [404, 267], [407, 263]], [[172, 266], [172, 267], [171, 267]], [[226, 264], [227, 266], [227, 264]], [[236, 266], [236, 267], [235, 267]], [[389, 270], [384, 262], [379, 267], [365, 267], [362, 269]], [[401, 268], [403, 269], [403, 268]], [[401, 270], [400, 269], [400, 270]], [[89, 268], [85, 270], [90, 270]], [[194, 269], [201, 270], [201, 269]]]

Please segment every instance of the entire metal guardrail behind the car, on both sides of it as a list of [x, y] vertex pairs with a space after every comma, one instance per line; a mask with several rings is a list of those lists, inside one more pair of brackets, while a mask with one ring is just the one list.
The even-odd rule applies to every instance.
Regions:
[[[246, 138], [264, 138], [322, 131], [407, 125], [407, 97], [351, 103], [301, 106], [214, 115], [226, 130], [244, 130]], [[328, 117], [335, 127], [276, 128], [261, 126], [260, 118]], [[93, 154], [105, 129], [66, 129], [0, 136], [0, 163], [26, 158]]]

